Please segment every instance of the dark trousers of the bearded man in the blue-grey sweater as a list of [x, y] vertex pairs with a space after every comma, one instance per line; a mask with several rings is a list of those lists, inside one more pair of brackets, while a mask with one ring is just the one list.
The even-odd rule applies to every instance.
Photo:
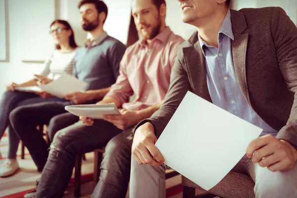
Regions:
[[[44, 140], [43, 134], [36, 129], [36, 126], [48, 125], [54, 116], [66, 113], [65, 106], [68, 104], [70, 104], [69, 101], [41, 102], [19, 106], [10, 113], [11, 126], [28, 148], [39, 171], [42, 171], [47, 162], [49, 145]], [[66, 114], [68, 115], [69, 113]], [[59, 129], [77, 122], [78, 117], [70, 115], [70, 123], [68, 118], [63, 119], [63, 121], [65, 122], [62, 125], [60, 124], [61, 126], [59, 125]], [[52, 127], [49, 126], [49, 129], [51, 130]], [[49, 131], [49, 137], [52, 137], [53, 133], [52, 130]]]

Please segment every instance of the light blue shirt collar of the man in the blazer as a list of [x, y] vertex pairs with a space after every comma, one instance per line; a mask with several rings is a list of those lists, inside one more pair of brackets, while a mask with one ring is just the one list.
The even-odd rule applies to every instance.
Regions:
[[[222, 23], [222, 26], [220, 28], [219, 35], [218, 35], [218, 41], [220, 41], [222, 34], [229, 37], [230, 39], [232, 39], [234, 41], [234, 34], [233, 34], [233, 30], [232, 30], [231, 11], [230, 11], [230, 9], [228, 9], [227, 14], [226, 14], [226, 16], [224, 18], [224, 21]], [[203, 41], [203, 39], [201, 39], [199, 33], [198, 33], [198, 40], [199, 40], [199, 44], [200, 44], [200, 47], [202, 49], [202, 52], [204, 54], [203, 46], [206, 46], [206, 47], [209, 47], [209, 46]], [[204, 56], [205, 56], [205, 54], [204, 54]]]

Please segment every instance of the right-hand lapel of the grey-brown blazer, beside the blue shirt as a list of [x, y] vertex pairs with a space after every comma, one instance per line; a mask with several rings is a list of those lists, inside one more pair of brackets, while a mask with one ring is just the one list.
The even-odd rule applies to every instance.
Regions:
[[234, 34], [234, 41], [232, 41], [234, 69], [241, 91], [247, 103], [251, 105], [248, 95], [246, 72], [248, 34], [242, 34], [247, 29], [247, 23], [244, 14], [235, 10], [231, 10], [231, 22]]

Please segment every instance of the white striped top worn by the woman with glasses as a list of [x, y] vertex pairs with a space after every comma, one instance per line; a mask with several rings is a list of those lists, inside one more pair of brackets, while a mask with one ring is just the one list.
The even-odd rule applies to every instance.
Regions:
[[61, 52], [57, 49], [54, 50], [46, 59], [45, 67], [40, 75], [46, 76], [52, 80], [56, 80], [61, 74], [72, 75], [73, 58], [77, 49], [69, 52]]

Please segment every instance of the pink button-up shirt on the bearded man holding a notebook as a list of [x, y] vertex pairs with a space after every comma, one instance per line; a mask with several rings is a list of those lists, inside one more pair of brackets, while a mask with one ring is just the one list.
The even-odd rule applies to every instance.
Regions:
[[[130, 46], [121, 60], [120, 75], [106, 96], [117, 99], [129, 110], [140, 110], [161, 102], [169, 88], [177, 50], [183, 42], [183, 38], [166, 27], [149, 47], [145, 41]], [[136, 98], [128, 102], [133, 93]]]

